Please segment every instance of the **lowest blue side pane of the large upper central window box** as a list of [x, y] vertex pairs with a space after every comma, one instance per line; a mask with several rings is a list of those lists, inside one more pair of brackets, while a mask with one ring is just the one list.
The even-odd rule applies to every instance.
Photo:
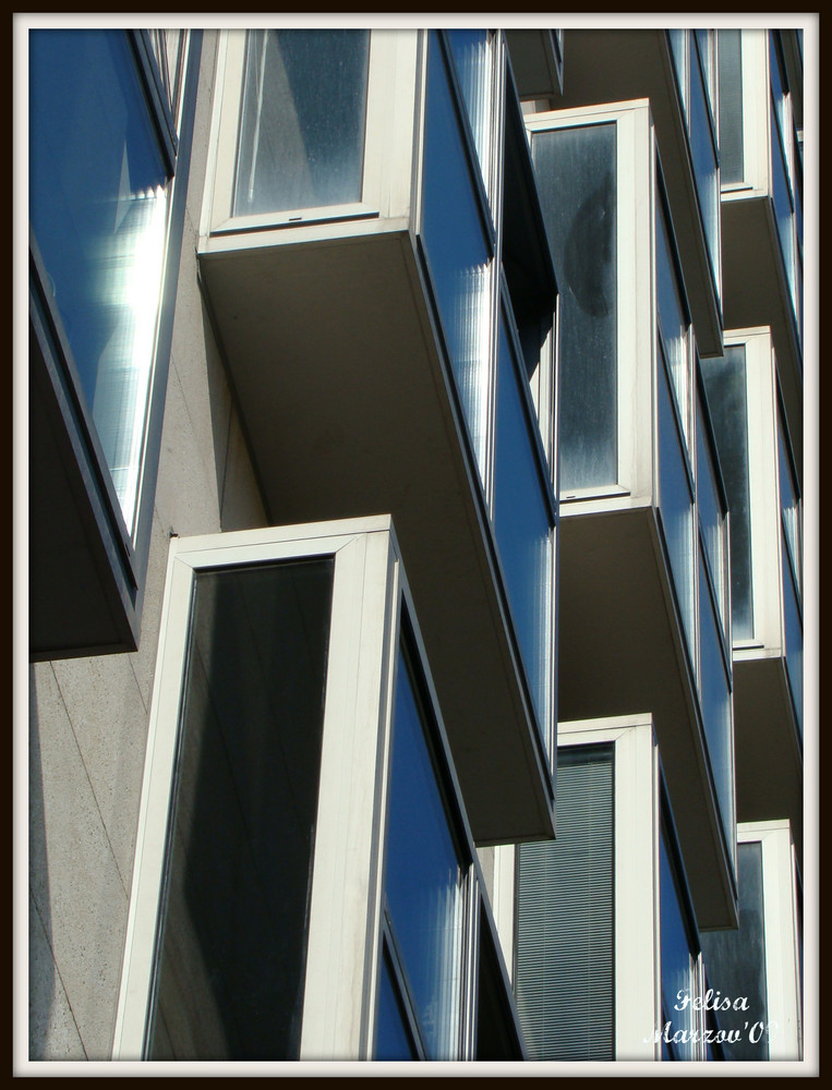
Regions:
[[545, 729], [548, 708], [552, 523], [505, 324], [499, 327], [494, 530], [526, 673]]

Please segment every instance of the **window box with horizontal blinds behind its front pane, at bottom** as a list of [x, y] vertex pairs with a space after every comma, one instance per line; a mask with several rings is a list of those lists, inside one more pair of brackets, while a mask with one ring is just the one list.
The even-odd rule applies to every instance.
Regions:
[[497, 923], [530, 1058], [710, 1058], [697, 920], [651, 716], [562, 722], [558, 741], [558, 838], [498, 848], [495, 869], [495, 904], [516, 903]]

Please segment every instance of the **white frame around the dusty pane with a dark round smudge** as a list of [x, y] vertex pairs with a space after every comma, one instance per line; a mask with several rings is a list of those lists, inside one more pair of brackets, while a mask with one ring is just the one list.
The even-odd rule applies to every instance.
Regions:
[[[560, 493], [562, 513], [592, 514], [652, 501], [653, 449], [648, 428], [654, 404], [652, 371], [655, 349], [644, 330], [655, 328], [654, 280], [655, 135], [647, 99], [527, 113], [534, 133], [592, 124], [616, 125], [616, 332], [617, 481], [611, 485]], [[648, 199], [644, 199], [646, 194]], [[646, 241], [647, 240], [647, 241]]]

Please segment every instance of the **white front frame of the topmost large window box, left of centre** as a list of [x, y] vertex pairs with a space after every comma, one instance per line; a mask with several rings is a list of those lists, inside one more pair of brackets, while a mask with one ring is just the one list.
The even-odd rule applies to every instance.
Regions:
[[[280, 228], [323, 223], [329, 225], [326, 233], [330, 233], [333, 221], [406, 215], [410, 198], [417, 32], [391, 29], [370, 32], [361, 199], [318, 208], [233, 215], [246, 34], [244, 29], [230, 29], [220, 36], [209, 143], [214, 153], [208, 161], [203, 239], [218, 237], [221, 242], [224, 235], [252, 233], [261, 240], [256, 243], [252, 240], [252, 244], [264, 244], [264, 234]], [[232, 247], [239, 247], [239, 239], [229, 241]]]

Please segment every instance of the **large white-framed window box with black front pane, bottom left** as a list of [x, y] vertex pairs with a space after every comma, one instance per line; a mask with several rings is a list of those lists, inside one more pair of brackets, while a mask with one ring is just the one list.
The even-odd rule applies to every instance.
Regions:
[[171, 542], [113, 1058], [524, 1058], [388, 517]]

